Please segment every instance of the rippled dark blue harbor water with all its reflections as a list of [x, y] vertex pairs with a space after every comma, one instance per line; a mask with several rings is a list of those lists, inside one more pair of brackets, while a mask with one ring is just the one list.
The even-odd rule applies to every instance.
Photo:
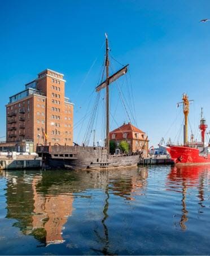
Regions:
[[210, 253], [210, 167], [0, 175], [0, 254]]

